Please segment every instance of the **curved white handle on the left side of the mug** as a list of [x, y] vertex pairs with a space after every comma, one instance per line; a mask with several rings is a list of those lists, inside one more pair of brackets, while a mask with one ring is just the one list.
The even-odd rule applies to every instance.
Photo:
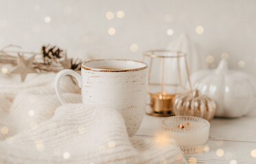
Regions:
[[77, 72], [75, 72], [73, 70], [61, 70], [60, 72], [58, 72], [58, 74], [56, 75], [56, 77], [54, 79], [55, 92], [56, 92], [56, 94], [58, 96], [58, 99], [62, 103], [62, 105], [67, 104], [67, 101], [64, 99], [64, 97], [62, 96], [62, 93], [60, 92], [60, 80], [65, 75], [71, 75], [72, 77], [75, 77], [76, 81], [78, 81], [78, 86], [80, 88], [82, 87], [82, 77]]

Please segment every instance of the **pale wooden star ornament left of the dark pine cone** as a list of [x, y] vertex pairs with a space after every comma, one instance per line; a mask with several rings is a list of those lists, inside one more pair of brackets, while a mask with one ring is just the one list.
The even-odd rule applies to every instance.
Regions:
[[35, 55], [30, 57], [30, 59], [24, 59], [18, 54], [18, 66], [10, 72], [10, 74], [21, 74], [21, 81], [24, 81], [28, 73], [36, 73], [33, 68], [33, 61]]

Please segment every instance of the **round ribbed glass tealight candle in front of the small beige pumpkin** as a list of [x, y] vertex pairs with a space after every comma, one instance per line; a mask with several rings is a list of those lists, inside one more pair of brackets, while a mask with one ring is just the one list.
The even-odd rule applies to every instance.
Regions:
[[209, 139], [210, 123], [189, 115], [178, 115], [163, 120], [163, 130], [175, 139], [179, 148], [186, 153], [205, 152]]

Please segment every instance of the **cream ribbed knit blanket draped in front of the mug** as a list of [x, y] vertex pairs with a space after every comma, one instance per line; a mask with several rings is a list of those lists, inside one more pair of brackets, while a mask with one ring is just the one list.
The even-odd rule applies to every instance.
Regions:
[[0, 163], [187, 163], [172, 139], [128, 137], [117, 111], [79, 104], [70, 77], [61, 84], [70, 104], [61, 106], [55, 75], [0, 77]]

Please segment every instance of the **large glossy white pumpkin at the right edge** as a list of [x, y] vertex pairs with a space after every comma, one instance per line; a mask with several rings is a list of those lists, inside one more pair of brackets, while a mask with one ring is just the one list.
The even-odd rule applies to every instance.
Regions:
[[237, 118], [246, 115], [256, 100], [253, 75], [228, 70], [225, 59], [216, 70], [200, 70], [191, 74], [191, 84], [217, 103], [216, 116]]

